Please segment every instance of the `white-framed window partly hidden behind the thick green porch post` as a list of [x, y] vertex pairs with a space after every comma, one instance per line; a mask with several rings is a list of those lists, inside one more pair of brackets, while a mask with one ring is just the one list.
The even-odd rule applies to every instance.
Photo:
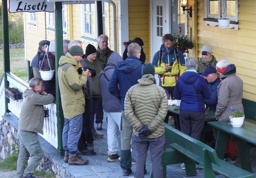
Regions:
[[[67, 22], [67, 11], [66, 11], [66, 4], [62, 5], [62, 28], [63, 28], [63, 33], [66, 32], [66, 22]], [[47, 28], [49, 30], [54, 30], [55, 29], [55, 22], [54, 22], [54, 12], [47, 12]]]

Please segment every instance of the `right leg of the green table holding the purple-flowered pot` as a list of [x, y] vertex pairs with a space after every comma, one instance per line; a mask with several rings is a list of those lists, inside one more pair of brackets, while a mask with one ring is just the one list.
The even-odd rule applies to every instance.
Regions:
[[252, 172], [250, 160], [250, 146], [247, 144], [246, 141], [242, 139], [235, 138], [235, 140], [238, 148], [238, 155], [240, 158], [241, 168], [246, 171]]

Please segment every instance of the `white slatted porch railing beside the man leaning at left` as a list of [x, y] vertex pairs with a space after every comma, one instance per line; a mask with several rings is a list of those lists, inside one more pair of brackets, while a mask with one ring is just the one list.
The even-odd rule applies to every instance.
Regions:
[[[28, 83], [24, 82], [14, 74], [7, 72], [7, 80], [9, 81], [9, 87], [15, 87], [18, 88], [20, 91], [24, 92], [28, 88]], [[4, 82], [2, 82], [4, 83]], [[2, 84], [1, 84], [2, 86]], [[2, 91], [4, 89], [1, 89]], [[5, 108], [5, 100], [2, 99], [5, 97], [5, 93], [2, 91], [0, 93], [0, 99], [1, 99], [1, 105]], [[14, 113], [17, 117], [20, 116], [20, 109], [22, 100], [12, 101], [10, 100], [10, 103], [8, 104], [8, 109]], [[1, 107], [1, 108], [2, 108]], [[44, 118], [44, 126], [43, 126], [43, 132], [44, 134], [41, 135], [46, 141], [48, 141], [51, 145], [53, 145], [55, 148], [58, 147], [58, 135], [57, 135], [57, 114], [56, 114], [56, 104], [49, 104], [45, 105], [49, 110], [49, 117]], [[2, 115], [1, 115], [2, 116]]]

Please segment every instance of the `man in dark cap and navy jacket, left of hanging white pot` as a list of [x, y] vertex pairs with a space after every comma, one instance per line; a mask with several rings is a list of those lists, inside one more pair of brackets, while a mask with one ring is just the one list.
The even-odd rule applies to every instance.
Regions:
[[45, 50], [46, 50], [46, 46], [45, 45], [49, 46], [50, 45], [50, 41], [42, 40], [42, 41], [39, 42], [39, 47], [38, 47], [37, 54], [32, 59], [30, 67], [32, 67], [34, 78], [41, 78], [41, 75], [39, 73], [39, 61], [38, 61], [38, 58], [39, 58], [39, 56], [44, 55]]

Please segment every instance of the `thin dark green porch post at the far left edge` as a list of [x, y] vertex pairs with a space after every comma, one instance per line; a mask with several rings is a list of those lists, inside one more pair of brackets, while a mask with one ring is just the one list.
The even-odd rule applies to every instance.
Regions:
[[[4, 56], [4, 83], [5, 88], [9, 87], [7, 81], [6, 72], [10, 72], [10, 51], [9, 51], [9, 29], [8, 29], [8, 9], [7, 1], [2, 0], [2, 27], [3, 27], [3, 56]], [[9, 99], [5, 97], [5, 112], [11, 112], [8, 110]]]

